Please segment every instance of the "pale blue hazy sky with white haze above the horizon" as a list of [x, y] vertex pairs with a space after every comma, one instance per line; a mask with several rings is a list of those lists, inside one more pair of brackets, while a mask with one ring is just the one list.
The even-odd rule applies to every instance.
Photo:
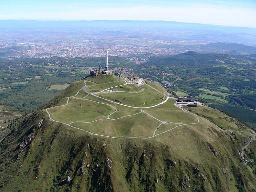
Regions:
[[0, 0], [0, 20], [165, 20], [256, 28], [256, 0]]

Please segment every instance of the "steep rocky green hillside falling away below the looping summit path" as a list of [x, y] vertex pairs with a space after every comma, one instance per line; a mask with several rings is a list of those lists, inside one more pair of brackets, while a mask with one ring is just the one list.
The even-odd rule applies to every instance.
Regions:
[[[83, 86], [72, 84], [45, 108], [63, 105]], [[214, 109], [194, 110], [197, 124], [150, 139], [115, 139], [54, 122], [42, 109], [12, 122], [0, 143], [0, 191], [255, 191], [254, 162], [239, 155], [251, 135], [223, 129], [252, 131], [226, 116], [219, 121], [223, 114]], [[255, 159], [255, 146], [247, 159]]]

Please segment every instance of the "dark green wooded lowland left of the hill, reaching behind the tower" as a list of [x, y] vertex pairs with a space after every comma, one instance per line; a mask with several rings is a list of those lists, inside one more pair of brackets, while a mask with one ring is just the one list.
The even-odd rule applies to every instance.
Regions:
[[[50, 90], [54, 84], [72, 83], [89, 74], [89, 69], [105, 64], [105, 58], [59, 57], [43, 59], [0, 60], [0, 104], [31, 112], [45, 104], [61, 90]], [[109, 66], [133, 63], [119, 57], [109, 57]]]

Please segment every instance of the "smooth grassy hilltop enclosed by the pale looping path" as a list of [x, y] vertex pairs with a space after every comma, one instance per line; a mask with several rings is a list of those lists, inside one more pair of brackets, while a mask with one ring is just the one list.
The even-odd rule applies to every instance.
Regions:
[[[104, 77], [104, 76], [102, 76]], [[100, 81], [102, 79], [100, 78]], [[99, 82], [100, 82], [99, 81]], [[110, 82], [105, 84], [97, 84], [92, 81], [87, 84], [89, 87], [86, 91], [95, 92], [103, 89], [113, 87], [118, 84], [124, 84], [125, 82], [120, 79], [117, 82]], [[83, 86], [83, 82], [77, 82]], [[152, 87], [161, 90], [161, 92], [167, 93], [164, 91], [164, 88], [156, 83], [149, 83]], [[72, 84], [73, 85], [73, 84]], [[156, 105], [165, 100], [163, 95], [151, 88], [148, 85], [141, 86], [139, 88], [137, 85], [123, 85], [117, 87], [118, 90], [123, 90], [127, 92], [104, 92], [97, 94], [106, 99], [113, 100], [116, 102], [123, 103], [129, 106], [136, 107], [147, 107]], [[69, 88], [67, 88], [68, 90]], [[77, 87], [76, 90], [79, 90]], [[66, 91], [66, 90], [65, 90]], [[140, 91], [140, 92], [138, 92]], [[136, 93], [138, 92], [138, 93]], [[75, 93], [73, 93], [75, 94]], [[68, 94], [67, 96], [73, 96]], [[86, 97], [85, 97], [86, 96]], [[85, 98], [84, 98], [85, 97]], [[84, 99], [82, 99], [84, 98]], [[95, 102], [94, 102], [95, 101]], [[66, 104], [67, 98], [63, 98], [59, 101], [61, 105]], [[100, 103], [97, 103], [100, 102]], [[194, 123], [196, 122], [196, 117], [192, 114], [185, 113], [181, 109], [174, 106], [175, 100], [169, 99], [165, 104], [147, 108], [145, 111], [152, 115], [153, 117], [159, 119], [160, 121], [168, 121], [174, 123]], [[108, 104], [108, 105], [106, 105]], [[113, 107], [111, 107], [111, 106]], [[115, 109], [118, 109], [115, 113]], [[141, 113], [140, 109], [126, 107], [106, 101], [104, 99], [95, 97], [93, 95], [88, 95], [83, 90], [81, 90], [75, 98], [70, 98], [69, 102], [65, 106], [50, 108], [49, 113], [51, 117], [59, 122], [72, 123], [72, 126], [77, 126], [79, 128], [85, 129], [92, 133], [103, 134], [108, 136], [115, 137], [149, 137], [153, 135], [154, 130], [161, 123], [160, 121], [152, 118], [146, 113]], [[113, 113], [113, 114], [111, 114]], [[111, 114], [111, 115], [110, 115]], [[108, 119], [108, 115], [110, 119]], [[107, 118], [107, 119], [105, 119]], [[99, 120], [104, 119], [104, 120]], [[94, 123], [82, 123], [91, 122]], [[176, 124], [174, 124], [176, 125]], [[161, 125], [162, 127], [170, 127], [166, 125]]]

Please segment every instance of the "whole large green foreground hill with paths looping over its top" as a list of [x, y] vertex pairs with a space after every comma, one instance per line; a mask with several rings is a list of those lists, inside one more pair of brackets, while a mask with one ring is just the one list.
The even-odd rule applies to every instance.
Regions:
[[253, 130], [143, 82], [88, 77], [13, 121], [0, 191], [255, 191]]

